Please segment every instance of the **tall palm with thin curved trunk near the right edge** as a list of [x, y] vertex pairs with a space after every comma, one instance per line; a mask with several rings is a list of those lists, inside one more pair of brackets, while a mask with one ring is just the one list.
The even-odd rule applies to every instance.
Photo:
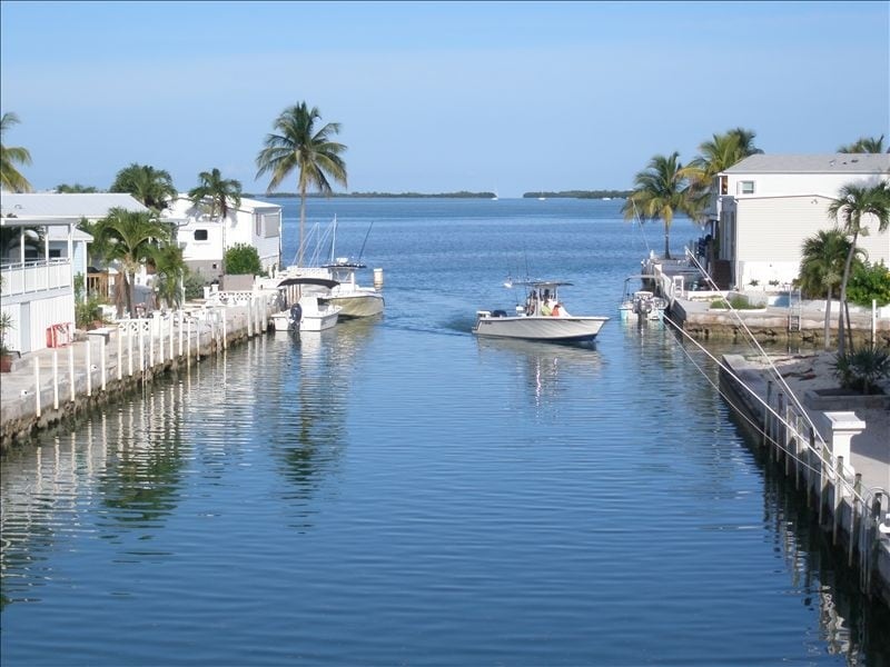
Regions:
[[[869, 228], [866, 226], [869, 218], [878, 221], [878, 231], [884, 231], [890, 223], [890, 186], [882, 181], [877, 186], [860, 186], [848, 183], [841, 188], [838, 199], [828, 207], [828, 213], [835, 222], [842, 225], [844, 233], [851, 236], [850, 249], [843, 263], [841, 278], [841, 312], [838, 319], [838, 355], [844, 355], [844, 312], [847, 310], [847, 283], [850, 280], [850, 270], [853, 265], [853, 253], [859, 236], [867, 236]], [[840, 220], [839, 220], [840, 218]], [[864, 218], [864, 220], [863, 220]], [[849, 320], [849, 316], [847, 317]], [[849, 321], [847, 322], [849, 327]], [[850, 348], [852, 351], [852, 335]]]

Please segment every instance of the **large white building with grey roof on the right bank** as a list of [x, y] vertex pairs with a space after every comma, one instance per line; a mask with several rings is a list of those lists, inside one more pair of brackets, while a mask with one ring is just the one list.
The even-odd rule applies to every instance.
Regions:
[[[828, 207], [849, 183], [890, 180], [890, 155], [755, 155], [715, 177], [709, 211], [710, 272], [723, 288], [788, 286], [798, 277], [803, 241], [833, 229]], [[864, 221], [863, 221], [864, 222]], [[872, 221], [858, 246], [890, 266], [890, 230]]]

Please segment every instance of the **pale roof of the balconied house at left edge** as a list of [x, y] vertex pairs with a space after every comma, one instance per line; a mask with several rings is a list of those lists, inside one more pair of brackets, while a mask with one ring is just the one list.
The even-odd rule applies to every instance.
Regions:
[[147, 211], [132, 195], [118, 192], [80, 193], [80, 192], [39, 192], [18, 193], [3, 192], [0, 196], [0, 210], [3, 216], [14, 215], [18, 218], [87, 218], [90, 220], [105, 218], [115, 207], [128, 211]]

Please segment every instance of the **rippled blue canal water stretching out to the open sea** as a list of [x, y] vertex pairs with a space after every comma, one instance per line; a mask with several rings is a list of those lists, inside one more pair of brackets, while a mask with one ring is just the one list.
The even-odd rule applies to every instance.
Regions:
[[[620, 205], [312, 200], [384, 268], [384, 318], [254, 340], [6, 457], [4, 667], [887, 665], [886, 609], [706, 358], [617, 319], [661, 242]], [[613, 317], [595, 347], [469, 334], [526, 276]]]

